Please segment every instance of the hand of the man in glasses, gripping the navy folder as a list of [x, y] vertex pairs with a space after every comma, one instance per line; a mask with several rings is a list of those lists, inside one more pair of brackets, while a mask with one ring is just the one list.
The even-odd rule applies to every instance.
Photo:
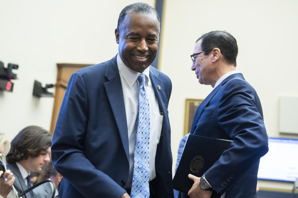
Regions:
[[205, 191], [200, 186], [200, 177], [196, 177], [192, 174], [188, 175], [188, 178], [194, 182], [192, 188], [188, 191], [190, 198], [210, 198], [213, 191]]

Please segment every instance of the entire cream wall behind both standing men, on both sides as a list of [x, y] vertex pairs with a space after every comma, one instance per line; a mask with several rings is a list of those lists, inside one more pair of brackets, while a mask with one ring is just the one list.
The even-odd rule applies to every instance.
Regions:
[[[5, 66], [19, 64], [13, 93], [0, 92], [0, 131], [12, 140], [28, 125], [49, 129], [53, 98], [34, 98], [34, 80], [55, 83], [58, 62], [99, 63], [113, 57], [119, 13], [132, 2], [136, 1], [0, 0], [0, 60]], [[183, 136], [185, 99], [204, 99], [212, 90], [198, 83], [189, 57], [196, 39], [212, 30], [236, 37], [237, 69], [259, 94], [269, 136], [281, 136], [278, 98], [298, 96], [297, 7], [296, 0], [165, 1], [160, 70], [173, 83], [169, 104], [173, 167]]]

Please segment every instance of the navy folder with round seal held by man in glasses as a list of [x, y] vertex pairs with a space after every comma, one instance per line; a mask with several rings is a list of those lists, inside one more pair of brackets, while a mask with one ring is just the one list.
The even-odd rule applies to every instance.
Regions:
[[[187, 194], [193, 185], [188, 174], [201, 177], [229, 149], [230, 144], [231, 140], [189, 135], [174, 175], [174, 189]], [[214, 191], [211, 198], [217, 197], [220, 195]]]

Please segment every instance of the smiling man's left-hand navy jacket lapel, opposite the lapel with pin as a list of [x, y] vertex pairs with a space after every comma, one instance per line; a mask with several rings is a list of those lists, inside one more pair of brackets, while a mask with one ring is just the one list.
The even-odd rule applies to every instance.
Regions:
[[106, 94], [112, 107], [127, 160], [129, 161], [127, 121], [122, 85], [117, 66], [117, 56], [108, 62], [105, 76], [109, 80], [108, 82], [104, 83]]

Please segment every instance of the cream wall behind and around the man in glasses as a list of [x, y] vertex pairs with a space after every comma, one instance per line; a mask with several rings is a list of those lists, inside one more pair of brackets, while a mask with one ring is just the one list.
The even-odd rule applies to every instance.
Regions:
[[[187, 3], [182, 3], [187, 2]], [[298, 97], [298, 1], [178, 1], [165, 3], [160, 70], [169, 75], [173, 169], [183, 137], [185, 99], [204, 99], [212, 87], [201, 85], [191, 71], [195, 41], [212, 30], [226, 30], [239, 48], [237, 70], [257, 91], [269, 137], [279, 134], [279, 97]], [[260, 187], [291, 189], [292, 184], [260, 182]]]

